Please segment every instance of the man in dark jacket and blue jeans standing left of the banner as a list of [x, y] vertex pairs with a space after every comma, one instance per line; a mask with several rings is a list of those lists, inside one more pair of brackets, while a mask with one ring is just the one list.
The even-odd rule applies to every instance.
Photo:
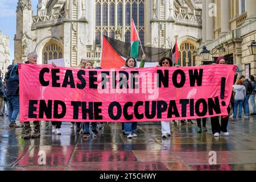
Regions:
[[16, 125], [16, 118], [19, 114], [19, 93], [17, 92], [19, 87], [19, 76], [16, 74], [16, 76], [10, 77], [12, 69], [13, 65], [9, 65], [8, 72], [5, 75], [6, 98], [9, 104], [9, 126], [20, 127]]

